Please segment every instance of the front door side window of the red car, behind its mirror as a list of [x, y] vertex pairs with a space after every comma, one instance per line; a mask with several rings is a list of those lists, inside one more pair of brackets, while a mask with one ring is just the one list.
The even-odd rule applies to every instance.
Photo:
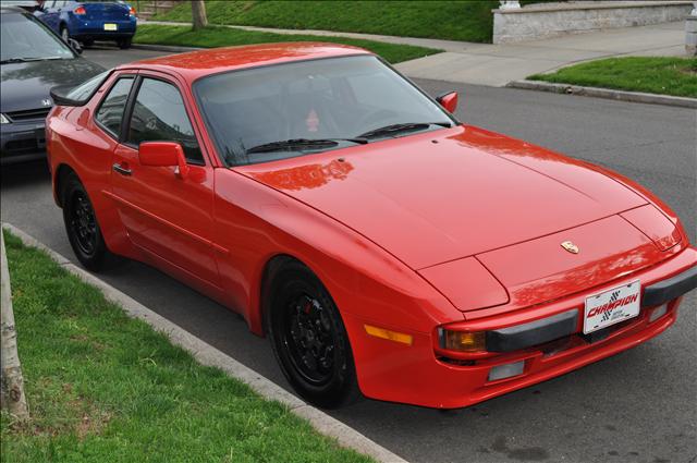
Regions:
[[140, 84], [126, 142], [179, 142], [187, 161], [204, 162], [181, 94], [175, 86], [155, 78], [144, 78]]

